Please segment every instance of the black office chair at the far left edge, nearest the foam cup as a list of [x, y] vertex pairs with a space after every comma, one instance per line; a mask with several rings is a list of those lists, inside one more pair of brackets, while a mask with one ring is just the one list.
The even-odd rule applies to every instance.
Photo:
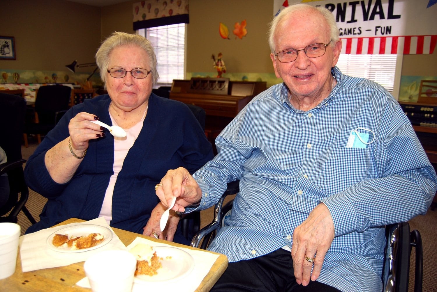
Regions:
[[[0, 222], [17, 223], [18, 213], [23, 211], [32, 224], [36, 223], [24, 206], [29, 196], [23, 172], [23, 163], [26, 160], [21, 156], [25, 114], [26, 100], [24, 98], [0, 93], [0, 124], [5, 125], [2, 127], [2, 135], [0, 135], [0, 147], [7, 156], [7, 162], [0, 165], [0, 175], [7, 173], [10, 188], [7, 202], [0, 207]], [[9, 214], [5, 216], [7, 213]]]

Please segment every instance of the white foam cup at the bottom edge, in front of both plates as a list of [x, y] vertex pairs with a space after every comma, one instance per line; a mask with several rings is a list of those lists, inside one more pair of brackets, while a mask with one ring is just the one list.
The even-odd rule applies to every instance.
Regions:
[[102, 251], [83, 265], [93, 292], [131, 292], [136, 259], [128, 251]]

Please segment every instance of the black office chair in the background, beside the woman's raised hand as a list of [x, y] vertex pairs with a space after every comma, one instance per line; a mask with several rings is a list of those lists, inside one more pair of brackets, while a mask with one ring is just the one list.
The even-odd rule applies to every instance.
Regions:
[[47, 85], [38, 88], [35, 98], [34, 121], [28, 120], [24, 126], [24, 146], [27, 147], [27, 134], [35, 134], [38, 143], [41, 135], [51, 131], [69, 109], [71, 88], [65, 85]]

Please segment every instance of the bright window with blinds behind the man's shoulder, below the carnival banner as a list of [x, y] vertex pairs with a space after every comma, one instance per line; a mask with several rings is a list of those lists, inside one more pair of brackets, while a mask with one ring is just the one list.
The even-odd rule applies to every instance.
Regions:
[[337, 67], [343, 74], [377, 82], [397, 98], [400, 74], [396, 74], [396, 69], [402, 67], [399, 62], [402, 56], [340, 54]]

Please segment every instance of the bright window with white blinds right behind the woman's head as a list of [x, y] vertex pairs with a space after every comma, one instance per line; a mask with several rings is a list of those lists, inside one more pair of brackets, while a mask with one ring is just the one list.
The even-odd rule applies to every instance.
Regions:
[[146, 37], [155, 48], [160, 75], [156, 84], [171, 86], [173, 79], [185, 78], [185, 24], [170, 24], [139, 29], [137, 34]]

